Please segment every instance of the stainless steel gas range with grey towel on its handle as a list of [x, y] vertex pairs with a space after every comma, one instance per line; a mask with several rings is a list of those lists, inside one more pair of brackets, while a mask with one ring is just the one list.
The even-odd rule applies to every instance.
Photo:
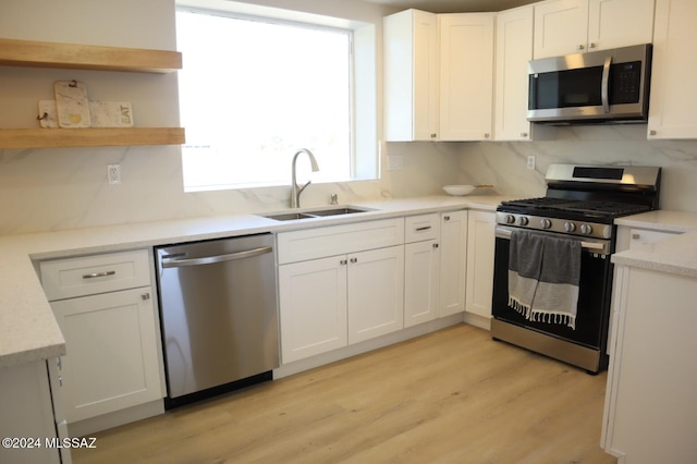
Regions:
[[492, 338], [607, 368], [614, 219], [658, 209], [660, 178], [655, 167], [551, 164], [545, 197], [502, 203]]

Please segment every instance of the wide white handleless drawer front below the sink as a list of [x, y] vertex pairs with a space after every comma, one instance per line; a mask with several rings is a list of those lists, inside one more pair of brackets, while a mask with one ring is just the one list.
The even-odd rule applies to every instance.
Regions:
[[383, 219], [280, 233], [278, 256], [283, 265], [403, 243], [404, 218]]

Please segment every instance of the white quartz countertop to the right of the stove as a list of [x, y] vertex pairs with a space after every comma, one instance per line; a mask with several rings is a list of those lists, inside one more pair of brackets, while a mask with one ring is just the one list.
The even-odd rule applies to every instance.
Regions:
[[697, 213], [656, 210], [627, 216], [615, 222], [617, 225], [675, 232], [680, 235], [616, 253], [612, 256], [612, 262], [697, 278]]

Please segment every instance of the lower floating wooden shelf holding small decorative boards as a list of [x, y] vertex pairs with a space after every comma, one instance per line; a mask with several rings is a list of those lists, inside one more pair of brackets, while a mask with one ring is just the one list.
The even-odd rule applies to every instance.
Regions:
[[0, 148], [181, 145], [182, 127], [0, 129]]

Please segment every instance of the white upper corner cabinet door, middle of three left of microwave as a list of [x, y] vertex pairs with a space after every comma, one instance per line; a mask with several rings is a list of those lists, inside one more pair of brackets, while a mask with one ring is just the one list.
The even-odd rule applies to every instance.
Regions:
[[441, 14], [441, 141], [486, 141], [492, 133], [494, 13]]

